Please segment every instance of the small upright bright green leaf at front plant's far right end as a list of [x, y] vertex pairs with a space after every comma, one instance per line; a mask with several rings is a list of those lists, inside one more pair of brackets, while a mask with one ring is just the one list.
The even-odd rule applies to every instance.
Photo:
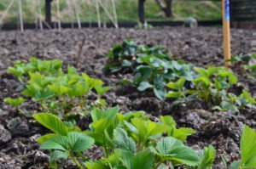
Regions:
[[200, 153], [200, 162], [198, 165], [198, 169], [210, 169], [212, 168], [214, 159], [216, 155], [216, 150], [212, 147], [212, 145], [206, 147], [201, 150]]

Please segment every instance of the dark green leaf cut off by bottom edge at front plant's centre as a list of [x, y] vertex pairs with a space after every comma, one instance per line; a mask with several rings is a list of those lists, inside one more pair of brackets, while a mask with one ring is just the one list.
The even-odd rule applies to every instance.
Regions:
[[127, 169], [151, 169], [154, 165], [154, 156], [147, 151], [139, 152], [137, 155], [124, 151], [120, 159]]

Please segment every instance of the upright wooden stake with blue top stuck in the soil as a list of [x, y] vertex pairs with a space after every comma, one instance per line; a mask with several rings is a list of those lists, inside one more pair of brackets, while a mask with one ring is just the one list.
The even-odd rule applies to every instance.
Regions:
[[222, 0], [223, 10], [223, 46], [225, 66], [230, 66], [231, 47], [230, 47], [230, 0]]

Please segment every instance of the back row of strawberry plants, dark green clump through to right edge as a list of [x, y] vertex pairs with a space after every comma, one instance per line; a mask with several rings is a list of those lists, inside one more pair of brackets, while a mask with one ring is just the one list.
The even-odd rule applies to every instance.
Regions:
[[[162, 46], [148, 47], [125, 40], [114, 46], [108, 57], [104, 70], [129, 72], [135, 77], [124, 82], [137, 86], [138, 91], [153, 90], [158, 99], [175, 99], [172, 104], [202, 99], [212, 110], [231, 111], [256, 104], [245, 88], [239, 95], [230, 92], [230, 87], [238, 81], [232, 70], [222, 66], [202, 68], [185, 64], [183, 60], [172, 59]], [[253, 67], [255, 65], [247, 65], [252, 71]]]

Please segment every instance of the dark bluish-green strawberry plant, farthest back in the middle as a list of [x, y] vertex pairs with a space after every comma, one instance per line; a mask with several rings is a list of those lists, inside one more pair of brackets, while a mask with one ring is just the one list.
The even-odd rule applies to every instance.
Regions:
[[189, 86], [195, 77], [192, 69], [193, 65], [171, 59], [168, 51], [161, 46], [139, 46], [131, 40], [113, 47], [109, 54], [109, 64], [105, 66], [105, 70], [112, 72], [131, 72], [135, 76], [131, 83], [139, 91], [151, 89], [161, 100], [166, 99], [167, 82], [183, 77]]

